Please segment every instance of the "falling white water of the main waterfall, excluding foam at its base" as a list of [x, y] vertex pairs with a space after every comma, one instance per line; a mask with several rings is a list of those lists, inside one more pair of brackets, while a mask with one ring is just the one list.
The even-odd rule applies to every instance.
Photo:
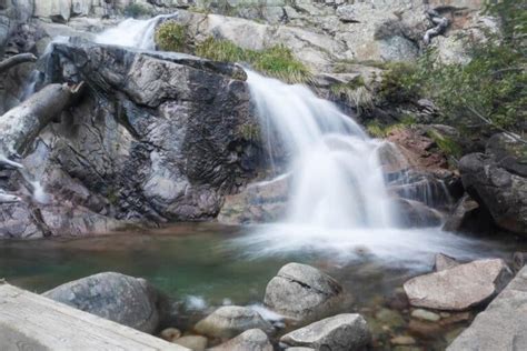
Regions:
[[396, 224], [378, 157], [384, 142], [369, 139], [306, 87], [251, 71], [247, 82], [260, 123], [277, 131], [291, 154], [288, 223], [340, 229]]

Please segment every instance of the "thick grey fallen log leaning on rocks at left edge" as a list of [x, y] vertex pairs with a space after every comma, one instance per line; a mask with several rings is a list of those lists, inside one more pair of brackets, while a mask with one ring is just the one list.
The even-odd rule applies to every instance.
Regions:
[[[72, 98], [79, 93], [82, 83], [49, 84], [18, 107], [0, 117], [0, 159], [8, 163], [16, 154], [23, 153], [26, 147], [40, 131], [56, 119]], [[13, 164], [11, 164], [13, 166]]]

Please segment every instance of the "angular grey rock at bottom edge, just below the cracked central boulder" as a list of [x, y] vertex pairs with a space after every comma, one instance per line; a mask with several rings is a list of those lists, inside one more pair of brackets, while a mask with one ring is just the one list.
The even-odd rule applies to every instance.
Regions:
[[280, 342], [315, 350], [349, 351], [364, 350], [370, 338], [360, 314], [338, 314], [285, 334]]

